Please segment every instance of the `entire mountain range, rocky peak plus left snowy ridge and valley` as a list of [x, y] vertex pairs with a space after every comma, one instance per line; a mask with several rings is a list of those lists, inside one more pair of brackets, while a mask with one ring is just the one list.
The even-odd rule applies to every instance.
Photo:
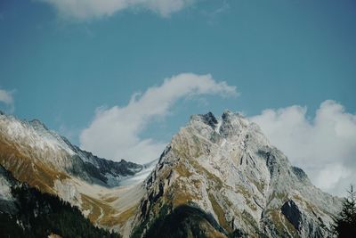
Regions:
[[124, 237], [331, 237], [342, 206], [231, 111], [191, 116], [147, 165], [98, 158], [2, 114], [0, 164]]

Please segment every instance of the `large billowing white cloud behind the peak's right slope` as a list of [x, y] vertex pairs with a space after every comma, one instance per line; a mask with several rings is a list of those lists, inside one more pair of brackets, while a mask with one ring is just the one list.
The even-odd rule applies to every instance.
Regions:
[[356, 115], [331, 100], [320, 104], [313, 119], [306, 111], [294, 105], [265, 110], [251, 119], [292, 164], [305, 169], [315, 185], [344, 194], [348, 185], [356, 183]]

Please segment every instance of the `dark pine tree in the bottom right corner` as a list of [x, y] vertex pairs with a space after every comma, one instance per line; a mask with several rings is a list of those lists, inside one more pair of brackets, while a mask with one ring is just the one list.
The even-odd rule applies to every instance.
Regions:
[[334, 226], [337, 237], [356, 237], [356, 192], [353, 186], [347, 191], [348, 196], [344, 198], [343, 209], [336, 218]]

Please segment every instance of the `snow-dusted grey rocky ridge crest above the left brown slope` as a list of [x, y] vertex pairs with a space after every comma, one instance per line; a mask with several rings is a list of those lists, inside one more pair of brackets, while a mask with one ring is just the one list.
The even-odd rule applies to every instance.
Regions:
[[[35, 157], [40, 157], [42, 162], [51, 163], [51, 166], [58, 170], [80, 176], [90, 182], [105, 185], [109, 178], [133, 176], [143, 168], [133, 162], [105, 160], [91, 152], [85, 152], [77, 145], [70, 144], [64, 136], [49, 130], [38, 119], [26, 121], [3, 114], [1, 123], [3, 141], [7, 140], [20, 145], [28, 144], [30, 150], [37, 152], [46, 150], [47, 154], [44, 156], [35, 154]], [[48, 159], [49, 156], [56, 160]], [[114, 181], [111, 182], [112, 185], [117, 185]]]

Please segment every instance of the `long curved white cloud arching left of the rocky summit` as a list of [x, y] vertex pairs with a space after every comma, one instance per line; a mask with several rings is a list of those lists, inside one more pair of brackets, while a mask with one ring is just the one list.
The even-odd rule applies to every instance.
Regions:
[[237, 95], [235, 86], [216, 82], [211, 75], [183, 73], [166, 78], [161, 86], [152, 86], [143, 94], [133, 94], [124, 106], [99, 108], [89, 127], [80, 135], [81, 147], [112, 160], [148, 162], [157, 159], [166, 143], [140, 138], [152, 119], [162, 119], [179, 99], [192, 95]]

